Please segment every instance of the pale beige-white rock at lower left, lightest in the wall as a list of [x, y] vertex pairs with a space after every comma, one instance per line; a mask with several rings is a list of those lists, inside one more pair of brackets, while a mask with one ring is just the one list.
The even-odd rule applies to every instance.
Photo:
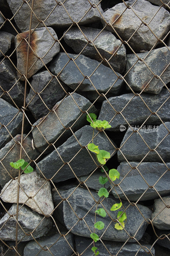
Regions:
[[[11, 180], [2, 189], [1, 199], [7, 203], [17, 203], [18, 182], [16, 180], [12, 180], [12, 182], [10, 182]], [[19, 204], [24, 204], [28, 199], [25, 204], [33, 211], [40, 214], [44, 213], [45, 215], [51, 214], [54, 209], [54, 205], [49, 181], [46, 182], [46, 180], [37, 172], [31, 172], [21, 175], [20, 185], [28, 196], [35, 195], [33, 198], [41, 210], [32, 198], [28, 199], [21, 187], [19, 189]]]

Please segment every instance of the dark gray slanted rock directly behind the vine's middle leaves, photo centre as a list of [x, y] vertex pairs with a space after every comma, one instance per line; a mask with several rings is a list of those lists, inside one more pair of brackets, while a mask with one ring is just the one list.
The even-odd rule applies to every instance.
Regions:
[[[82, 146], [86, 146], [91, 140], [93, 135], [93, 129], [90, 125], [86, 125], [82, 127], [80, 130], [74, 133], [79, 143]], [[94, 135], [97, 134], [97, 131], [94, 131]], [[93, 143], [98, 145], [99, 148], [107, 149], [107, 151], [112, 154], [115, 151], [115, 148], [108, 141], [106, 135], [100, 132], [94, 139]], [[114, 142], [113, 142], [114, 144]], [[114, 144], [115, 145], [115, 144]], [[115, 145], [116, 147], [116, 145]], [[70, 162], [72, 157], [74, 157], [78, 151], [81, 149], [74, 135], [72, 135], [66, 142], [63, 143], [59, 148], [57, 148], [58, 153], [62, 157], [64, 162]], [[39, 168], [41, 172], [45, 175], [47, 179], [51, 179], [53, 175], [62, 167], [63, 162], [60, 159], [56, 150], [54, 150], [51, 154], [42, 159], [36, 167], [37, 172]], [[116, 153], [116, 152], [115, 152]], [[93, 159], [96, 164], [99, 164], [96, 160], [95, 153], [91, 152]], [[92, 157], [89, 155], [86, 148], [83, 148], [77, 156], [70, 162], [70, 166], [73, 169], [74, 173], [77, 176], [85, 175], [94, 170], [97, 165], [92, 160]], [[71, 171], [69, 165], [64, 165], [62, 169], [57, 172], [57, 174], [53, 177], [54, 182], [59, 182], [63, 180], [68, 180], [71, 178], [75, 178], [74, 173]]]

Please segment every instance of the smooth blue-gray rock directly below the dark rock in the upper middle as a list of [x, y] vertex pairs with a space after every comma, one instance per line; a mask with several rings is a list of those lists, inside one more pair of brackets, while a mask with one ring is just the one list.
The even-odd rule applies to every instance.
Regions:
[[[69, 54], [70, 58], [77, 58], [77, 54]], [[61, 52], [58, 56], [52, 61], [50, 70], [53, 74], [58, 75], [59, 72], [63, 69], [63, 67], [67, 64], [69, 58], [66, 53]], [[79, 55], [79, 57], [75, 60], [76, 64], [80, 68], [81, 72], [85, 76], [91, 76], [93, 71], [97, 68], [95, 73], [90, 77], [92, 83], [99, 91], [99, 93], [106, 93], [110, 87], [115, 83], [117, 76], [113, 72], [112, 69], [100, 64], [96, 60], [91, 60], [84, 55]], [[71, 72], [70, 72], [71, 70]], [[120, 74], [117, 73], [119, 76]], [[59, 78], [67, 84], [70, 88], [75, 90], [78, 85], [83, 81], [84, 76], [80, 73], [76, 65], [73, 61], [70, 61], [67, 66], [63, 69], [60, 73]], [[89, 79], [85, 79], [83, 83], [78, 87], [76, 92], [80, 93], [81, 95], [85, 96], [89, 100], [96, 100], [99, 94], [96, 92], [95, 88], [93, 87], [92, 83]], [[116, 81], [110, 91], [107, 93], [107, 97], [111, 95], [117, 95], [123, 84], [123, 79]], [[109, 95], [109, 96], [108, 96]], [[104, 97], [100, 97], [99, 101], [104, 100]]]

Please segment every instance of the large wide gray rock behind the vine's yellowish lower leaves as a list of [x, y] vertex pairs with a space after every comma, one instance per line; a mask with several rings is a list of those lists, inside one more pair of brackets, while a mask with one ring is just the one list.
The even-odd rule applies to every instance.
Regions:
[[[67, 198], [74, 188], [69, 189], [68, 191], [65, 191], [62, 196]], [[97, 193], [92, 192], [92, 195], [96, 200], [99, 199], [99, 196]], [[61, 198], [58, 196], [57, 192], [54, 192], [53, 194], [53, 200], [55, 204], [58, 204], [61, 201]], [[74, 193], [69, 197], [68, 199], [70, 205], [73, 207], [74, 211], [78, 215], [79, 218], [83, 218], [85, 214], [91, 209], [91, 207], [94, 205], [94, 200], [92, 196], [90, 195], [89, 191], [83, 188], [77, 188]], [[102, 204], [106, 208], [106, 210], [109, 212], [110, 216], [115, 219], [117, 217], [117, 212], [116, 211], [110, 211], [111, 207], [115, 203], [119, 203], [119, 199], [115, 199], [113, 196], [110, 196], [108, 198], [105, 198]], [[122, 201], [124, 207], [127, 207], [129, 203]], [[63, 207], [62, 207], [63, 206]], [[143, 205], [137, 204], [139, 207], [140, 211], [144, 214], [145, 218], [151, 218], [151, 210]], [[62, 204], [60, 204], [58, 208], [59, 213], [62, 215], [64, 218], [64, 223], [68, 229], [72, 228], [73, 225], [78, 221], [78, 218], [72, 211], [71, 207], [67, 203], [67, 201], [63, 201]], [[84, 218], [87, 225], [91, 230], [94, 229], [94, 212], [95, 212], [96, 207], [93, 207], [92, 210], [87, 214], [87, 216]], [[135, 232], [143, 222], [144, 218], [142, 217], [141, 213], [138, 211], [136, 207], [129, 206], [129, 208], [126, 210], [126, 214], [128, 216], [127, 222], [125, 224], [125, 228], [127, 232], [131, 235], [134, 236]], [[106, 215], [105, 218], [100, 217], [97, 215], [96, 221], [103, 221], [105, 224], [105, 227], [107, 227], [111, 221], [110, 217]], [[127, 233], [122, 230], [121, 231], [121, 236], [119, 230], [116, 230], [114, 228], [114, 224], [111, 224], [102, 238], [104, 240], [112, 240], [112, 241], [117, 241], [117, 242], [125, 242], [128, 239]], [[140, 240], [142, 236], [144, 235], [144, 231], [147, 227], [147, 223], [144, 221], [141, 227], [139, 228], [137, 234], [136, 234], [136, 239]], [[97, 234], [98, 236], [101, 236], [103, 232], [105, 231], [105, 228], [102, 230], [98, 230]], [[86, 224], [84, 221], [79, 221], [74, 228], [71, 229], [71, 232], [75, 235], [78, 236], [85, 236], [85, 237], [90, 237], [90, 232], [89, 229], [87, 228]], [[135, 242], [133, 239], [129, 240], [128, 242]]]

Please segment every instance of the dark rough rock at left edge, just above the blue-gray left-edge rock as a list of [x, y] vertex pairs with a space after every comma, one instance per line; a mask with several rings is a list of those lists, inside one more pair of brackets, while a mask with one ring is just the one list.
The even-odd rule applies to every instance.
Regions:
[[[20, 108], [24, 102], [24, 86], [20, 81], [17, 82], [17, 72], [9, 60], [3, 60], [0, 65], [0, 84], [4, 91], [9, 91], [14, 86], [9, 94], [15, 104]], [[16, 84], [15, 84], [16, 83]], [[15, 84], [15, 85], [14, 85]], [[0, 89], [0, 94], [3, 91]], [[4, 93], [2, 98], [11, 104], [14, 104], [7, 93]]]

